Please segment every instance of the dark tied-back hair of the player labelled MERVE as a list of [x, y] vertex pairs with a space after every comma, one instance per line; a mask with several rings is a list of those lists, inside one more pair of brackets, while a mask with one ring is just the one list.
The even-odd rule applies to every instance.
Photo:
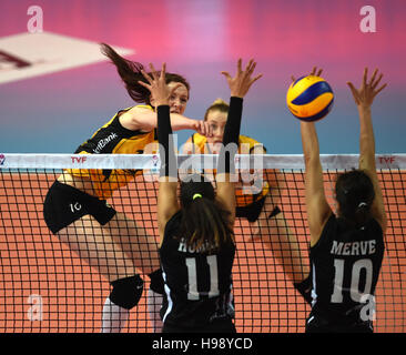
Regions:
[[361, 170], [343, 173], [335, 186], [338, 214], [349, 224], [361, 227], [371, 217], [371, 206], [375, 199], [371, 178]]

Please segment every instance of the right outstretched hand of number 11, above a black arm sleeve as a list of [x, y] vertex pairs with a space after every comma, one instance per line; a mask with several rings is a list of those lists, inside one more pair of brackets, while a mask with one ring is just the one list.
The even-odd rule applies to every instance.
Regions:
[[230, 73], [226, 71], [221, 72], [227, 79], [232, 97], [237, 97], [237, 98], [243, 99], [245, 97], [245, 94], [248, 92], [251, 85], [256, 80], [262, 78], [262, 74], [260, 74], [253, 79], [251, 78], [254, 72], [255, 67], [256, 67], [256, 62], [254, 62], [254, 60], [251, 59], [248, 64], [246, 65], [245, 70], [243, 71], [242, 70], [242, 60], [240, 58], [238, 62], [237, 62], [237, 72], [234, 78], [232, 78], [230, 75]]

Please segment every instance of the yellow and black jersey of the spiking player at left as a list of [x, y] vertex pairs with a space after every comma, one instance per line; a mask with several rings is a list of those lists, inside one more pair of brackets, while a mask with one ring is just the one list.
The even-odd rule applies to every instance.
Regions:
[[[150, 105], [138, 105], [149, 110]], [[132, 108], [119, 111], [108, 123], [100, 128], [91, 139], [82, 143], [75, 154], [142, 154], [145, 145], [156, 141], [156, 129], [151, 132], [131, 131], [120, 123], [120, 114]], [[102, 200], [111, 197], [113, 192], [126, 185], [142, 170], [102, 170], [69, 169], [73, 176], [89, 179], [93, 189]]]

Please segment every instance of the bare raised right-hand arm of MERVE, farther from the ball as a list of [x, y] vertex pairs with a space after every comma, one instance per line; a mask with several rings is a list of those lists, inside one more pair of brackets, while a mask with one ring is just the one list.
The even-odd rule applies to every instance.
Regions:
[[347, 82], [347, 84], [353, 93], [359, 115], [359, 169], [366, 171], [373, 181], [375, 199], [371, 211], [373, 216], [379, 222], [383, 231], [385, 232], [387, 226], [387, 217], [382, 190], [376, 174], [375, 136], [371, 114], [371, 106], [375, 97], [386, 87], [386, 84], [384, 84], [377, 89], [383, 78], [382, 73], [378, 77], [377, 74], [378, 70], [376, 69], [371, 78], [371, 81], [368, 82], [368, 69], [365, 68], [363, 82], [358, 90], [355, 89], [352, 82]]

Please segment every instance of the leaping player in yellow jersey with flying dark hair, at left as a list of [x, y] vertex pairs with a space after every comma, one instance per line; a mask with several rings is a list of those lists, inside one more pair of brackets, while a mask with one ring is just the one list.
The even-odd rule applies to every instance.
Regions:
[[[142, 154], [156, 139], [154, 98], [139, 83], [145, 81], [141, 63], [121, 58], [111, 47], [102, 44], [130, 97], [145, 103], [119, 111], [91, 139], [81, 144], [78, 154]], [[207, 124], [183, 115], [189, 100], [187, 81], [166, 73], [170, 118], [173, 130], [194, 129], [210, 135]], [[207, 130], [206, 130], [207, 128]], [[151, 152], [150, 152], [151, 153]], [[151, 277], [151, 288], [160, 288], [162, 280], [158, 242], [135, 221], [116, 212], [106, 203], [113, 192], [142, 171], [65, 170], [50, 187], [43, 206], [44, 220], [61, 242], [112, 285], [103, 306], [102, 332], [120, 332], [125, 325], [143, 290], [138, 270]]]

